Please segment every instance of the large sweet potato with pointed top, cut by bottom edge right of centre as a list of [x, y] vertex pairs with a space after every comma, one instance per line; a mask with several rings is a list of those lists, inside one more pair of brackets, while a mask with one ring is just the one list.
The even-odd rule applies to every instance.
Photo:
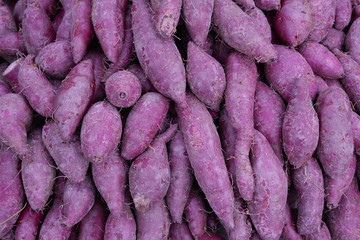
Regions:
[[279, 239], [287, 197], [287, 177], [271, 145], [255, 130], [252, 147], [254, 198], [248, 202], [251, 221], [263, 239]]

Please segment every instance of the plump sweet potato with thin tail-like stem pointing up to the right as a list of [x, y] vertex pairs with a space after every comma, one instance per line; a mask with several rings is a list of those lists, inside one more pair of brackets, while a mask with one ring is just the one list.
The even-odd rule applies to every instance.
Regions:
[[160, 202], [170, 186], [170, 166], [166, 143], [178, 126], [172, 125], [155, 138], [149, 148], [131, 164], [129, 185], [135, 208], [144, 213]]

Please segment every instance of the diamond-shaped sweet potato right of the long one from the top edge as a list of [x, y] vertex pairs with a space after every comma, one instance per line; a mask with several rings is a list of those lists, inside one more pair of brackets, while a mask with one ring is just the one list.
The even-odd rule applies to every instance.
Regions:
[[191, 91], [211, 110], [219, 112], [226, 87], [223, 67], [191, 41], [187, 57], [186, 76]]

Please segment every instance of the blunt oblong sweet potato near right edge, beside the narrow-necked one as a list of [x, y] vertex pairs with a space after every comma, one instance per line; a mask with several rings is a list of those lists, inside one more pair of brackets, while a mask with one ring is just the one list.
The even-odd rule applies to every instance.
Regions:
[[317, 154], [325, 173], [334, 178], [346, 171], [353, 157], [350, 100], [341, 88], [329, 87], [316, 106], [320, 123]]

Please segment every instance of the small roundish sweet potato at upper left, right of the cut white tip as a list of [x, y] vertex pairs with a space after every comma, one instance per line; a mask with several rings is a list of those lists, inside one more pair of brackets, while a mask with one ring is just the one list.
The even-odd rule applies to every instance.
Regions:
[[74, 66], [70, 43], [56, 41], [46, 45], [36, 56], [35, 62], [50, 77], [65, 78]]

